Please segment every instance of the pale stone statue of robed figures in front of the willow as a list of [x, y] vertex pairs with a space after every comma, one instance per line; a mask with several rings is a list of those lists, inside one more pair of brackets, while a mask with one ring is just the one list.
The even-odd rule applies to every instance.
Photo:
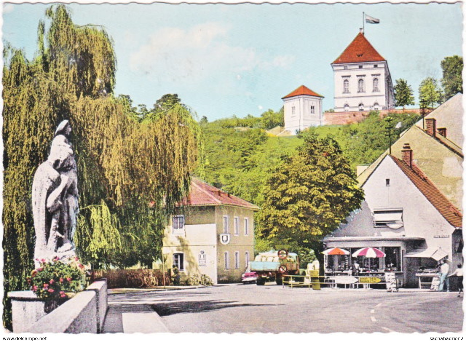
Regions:
[[[71, 125], [62, 121], [50, 153], [34, 174], [32, 206], [36, 235], [34, 259], [75, 256], [72, 243], [78, 213], [77, 167], [69, 137]], [[36, 266], [39, 261], [36, 260]]]

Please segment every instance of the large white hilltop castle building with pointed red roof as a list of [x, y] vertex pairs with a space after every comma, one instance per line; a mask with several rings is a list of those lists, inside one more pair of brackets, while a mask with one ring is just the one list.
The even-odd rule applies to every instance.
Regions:
[[395, 94], [388, 63], [359, 33], [331, 64], [335, 111], [393, 109]]

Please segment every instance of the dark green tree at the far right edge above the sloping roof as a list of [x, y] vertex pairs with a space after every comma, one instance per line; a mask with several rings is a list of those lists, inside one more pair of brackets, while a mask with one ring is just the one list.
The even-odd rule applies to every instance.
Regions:
[[445, 101], [457, 93], [463, 93], [463, 57], [454, 55], [445, 57], [440, 66], [443, 70], [441, 83], [444, 90]]

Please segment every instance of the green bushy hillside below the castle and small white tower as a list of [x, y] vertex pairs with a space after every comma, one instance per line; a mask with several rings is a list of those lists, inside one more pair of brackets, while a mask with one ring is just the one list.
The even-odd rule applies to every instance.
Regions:
[[[262, 127], [270, 116], [226, 118], [201, 123], [206, 136], [206, 175], [204, 180], [256, 205], [263, 202], [263, 185], [267, 177], [280, 167], [283, 157], [295, 153], [302, 144], [300, 136], [270, 136]], [[340, 144], [354, 170], [357, 164], [370, 164], [389, 147], [387, 128], [392, 143], [399, 134], [420, 118], [416, 114], [393, 114], [382, 119], [371, 113], [361, 123], [313, 128], [323, 137], [332, 135]], [[277, 121], [275, 121], [277, 122]]]

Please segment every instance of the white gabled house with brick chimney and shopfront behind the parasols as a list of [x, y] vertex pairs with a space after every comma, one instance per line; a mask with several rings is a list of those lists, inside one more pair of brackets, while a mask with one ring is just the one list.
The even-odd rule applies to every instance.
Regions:
[[461, 262], [462, 214], [413, 162], [416, 150], [405, 144], [402, 159], [386, 155], [362, 188], [361, 210], [324, 238], [326, 247], [350, 250], [373, 246], [386, 253], [370, 264], [371, 273], [395, 272], [403, 286], [419, 284], [418, 269], [434, 269], [441, 259]]

